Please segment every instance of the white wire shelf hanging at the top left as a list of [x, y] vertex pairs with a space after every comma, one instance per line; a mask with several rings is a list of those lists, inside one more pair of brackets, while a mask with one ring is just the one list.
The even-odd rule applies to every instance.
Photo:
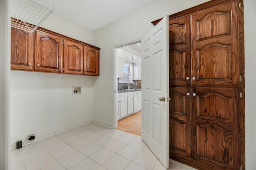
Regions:
[[28, 32], [33, 32], [55, 10], [33, 0], [10, 0], [10, 8], [11, 27]]

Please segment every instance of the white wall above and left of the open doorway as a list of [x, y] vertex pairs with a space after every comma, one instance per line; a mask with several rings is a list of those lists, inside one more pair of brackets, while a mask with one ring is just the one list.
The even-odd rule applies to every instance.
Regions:
[[114, 124], [114, 46], [141, 39], [154, 27], [151, 21], [206, 1], [160, 0], [93, 32], [93, 43], [101, 48], [100, 76], [94, 78], [94, 120], [110, 127]]

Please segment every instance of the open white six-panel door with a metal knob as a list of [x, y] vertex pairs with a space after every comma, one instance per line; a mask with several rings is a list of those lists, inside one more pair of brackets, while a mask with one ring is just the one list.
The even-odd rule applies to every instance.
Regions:
[[142, 39], [142, 140], [167, 169], [168, 16]]

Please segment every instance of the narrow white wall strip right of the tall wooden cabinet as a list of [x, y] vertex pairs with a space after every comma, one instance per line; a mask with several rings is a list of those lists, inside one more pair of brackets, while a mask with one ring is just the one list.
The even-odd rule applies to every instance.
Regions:
[[256, 168], [256, 1], [244, 0], [245, 44], [245, 160], [246, 169]]

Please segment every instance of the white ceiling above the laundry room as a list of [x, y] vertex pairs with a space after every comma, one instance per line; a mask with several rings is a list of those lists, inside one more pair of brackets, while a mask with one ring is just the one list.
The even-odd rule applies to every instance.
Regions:
[[[118, 20], [158, 0], [35, 0], [90, 30]], [[52, 3], [51, 3], [52, 1]]]

